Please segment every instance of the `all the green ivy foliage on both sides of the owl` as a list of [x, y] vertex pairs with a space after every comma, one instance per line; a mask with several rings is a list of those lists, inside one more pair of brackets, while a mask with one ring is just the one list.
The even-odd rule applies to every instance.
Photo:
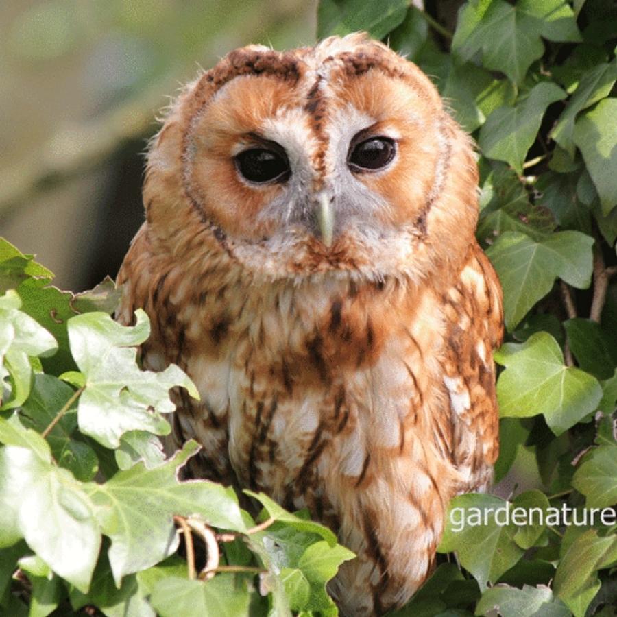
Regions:
[[[450, 34], [408, 0], [319, 3], [320, 38], [365, 29], [388, 40], [435, 77], [476, 138], [478, 238], [503, 283], [507, 327], [496, 480], [520, 461], [535, 471], [509, 501], [453, 500], [487, 511], [487, 524], [448, 526], [439, 551], [460, 567], [441, 564], [400, 615], [612, 614], [617, 525], [494, 518], [508, 503], [580, 513], [617, 503], [611, 4], [472, 0]], [[180, 481], [197, 446], [166, 460], [157, 435], [169, 432], [170, 387], [197, 396], [189, 378], [139, 369], [147, 319], [114, 324], [110, 282], [73, 295], [50, 281], [0, 244], [0, 610], [336, 614], [325, 583], [352, 554], [265, 495], [250, 497], [263, 506], [254, 520], [230, 489]]]

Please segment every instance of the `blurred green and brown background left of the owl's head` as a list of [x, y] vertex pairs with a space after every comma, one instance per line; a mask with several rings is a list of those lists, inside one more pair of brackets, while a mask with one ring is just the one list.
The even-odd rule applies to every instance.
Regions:
[[62, 289], [115, 276], [169, 96], [236, 47], [312, 45], [316, 12], [317, 0], [0, 3], [0, 235]]

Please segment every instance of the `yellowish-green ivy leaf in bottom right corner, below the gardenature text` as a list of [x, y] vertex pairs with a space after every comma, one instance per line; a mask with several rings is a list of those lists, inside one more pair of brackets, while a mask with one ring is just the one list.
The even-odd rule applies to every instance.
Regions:
[[574, 617], [583, 617], [600, 589], [596, 572], [617, 561], [617, 535], [599, 537], [596, 529], [574, 540], [557, 566], [553, 591]]

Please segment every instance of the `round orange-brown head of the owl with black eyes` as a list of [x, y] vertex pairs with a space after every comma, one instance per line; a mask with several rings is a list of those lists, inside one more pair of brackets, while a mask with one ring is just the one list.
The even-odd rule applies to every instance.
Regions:
[[474, 241], [470, 140], [428, 77], [364, 34], [228, 54], [149, 152], [149, 237], [254, 277], [422, 280]]

